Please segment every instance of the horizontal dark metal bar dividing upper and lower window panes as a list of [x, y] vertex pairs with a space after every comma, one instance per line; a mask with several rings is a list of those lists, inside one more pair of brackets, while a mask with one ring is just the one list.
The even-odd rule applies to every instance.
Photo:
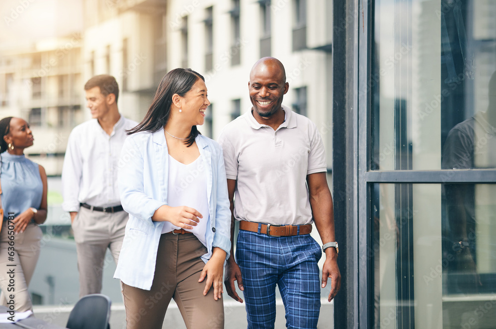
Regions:
[[496, 169], [374, 170], [364, 174], [368, 183], [496, 183]]

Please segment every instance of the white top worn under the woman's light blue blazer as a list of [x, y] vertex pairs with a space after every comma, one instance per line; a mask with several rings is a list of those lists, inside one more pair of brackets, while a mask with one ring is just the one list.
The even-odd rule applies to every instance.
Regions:
[[[204, 246], [205, 232], [210, 222], [207, 200], [207, 173], [205, 164], [198, 157], [190, 164], [182, 164], [169, 155], [169, 186], [167, 204], [171, 207], [187, 206], [196, 209], [203, 218], [192, 232]], [[164, 222], [162, 233], [170, 232], [181, 227], [173, 225], [170, 221]]]

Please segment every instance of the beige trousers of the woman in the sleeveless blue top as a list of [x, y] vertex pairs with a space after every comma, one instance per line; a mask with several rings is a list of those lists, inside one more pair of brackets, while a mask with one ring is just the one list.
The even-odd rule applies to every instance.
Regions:
[[[30, 223], [24, 232], [10, 235], [14, 238], [9, 240], [7, 224], [8, 220], [4, 220], [0, 232], [0, 305], [7, 306], [7, 302], [13, 300], [16, 311], [33, 310], [28, 286], [40, 256], [43, 233], [37, 224]], [[9, 241], [13, 241], [14, 245], [9, 245]], [[9, 248], [12, 247], [13, 256], [10, 256], [9, 252], [12, 252], [12, 249]], [[9, 257], [12, 257], [13, 261]], [[12, 299], [10, 295], [13, 295]]]

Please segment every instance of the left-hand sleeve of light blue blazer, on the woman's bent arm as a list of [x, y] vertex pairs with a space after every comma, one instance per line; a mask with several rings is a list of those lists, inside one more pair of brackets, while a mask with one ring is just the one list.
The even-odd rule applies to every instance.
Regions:
[[[153, 225], [151, 217], [165, 203], [157, 201], [145, 193], [143, 183], [144, 155], [140, 149], [146, 150], [146, 145], [139, 148], [134, 138], [125, 139], [119, 160], [119, 194], [123, 208], [127, 213]], [[146, 154], [145, 151], [143, 152]]]

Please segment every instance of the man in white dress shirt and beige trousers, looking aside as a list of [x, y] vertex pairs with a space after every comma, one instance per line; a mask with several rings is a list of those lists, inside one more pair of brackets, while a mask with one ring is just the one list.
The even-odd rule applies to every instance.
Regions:
[[84, 89], [92, 119], [70, 133], [62, 167], [62, 208], [74, 231], [80, 297], [101, 292], [107, 248], [116, 263], [119, 258], [128, 215], [121, 206], [117, 169], [125, 130], [137, 125], [119, 113], [113, 76], [94, 76]]

